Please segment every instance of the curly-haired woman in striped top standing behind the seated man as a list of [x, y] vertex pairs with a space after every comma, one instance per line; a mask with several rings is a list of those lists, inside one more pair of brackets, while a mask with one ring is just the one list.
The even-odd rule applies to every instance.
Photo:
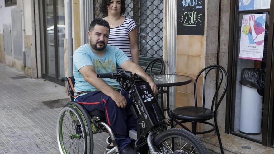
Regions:
[[103, 19], [110, 26], [108, 45], [123, 50], [133, 62], [138, 64], [137, 26], [133, 19], [122, 16], [125, 10], [125, 0], [102, 0], [100, 6], [100, 12], [105, 16]]

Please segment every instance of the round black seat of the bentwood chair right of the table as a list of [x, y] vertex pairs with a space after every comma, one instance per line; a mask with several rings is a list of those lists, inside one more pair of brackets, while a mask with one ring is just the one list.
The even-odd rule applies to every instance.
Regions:
[[214, 112], [210, 109], [195, 106], [177, 107], [171, 110], [170, 115], [174, 119], [182, 121], [203, 121], [212, 119]]

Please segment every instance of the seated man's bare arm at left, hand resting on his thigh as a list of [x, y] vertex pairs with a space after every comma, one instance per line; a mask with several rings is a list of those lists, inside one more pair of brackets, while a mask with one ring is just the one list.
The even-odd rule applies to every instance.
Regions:
[[103, 79], [97, 78], [94, 66], [83, 66], [79, 69], [79, 72], [89, 84], [102, 91], [102, 93], [106, 94], [107, 96], [110, 96], [112, 100], [115, 101], [118, 107], [126, 107], [127, 102], [125, 97], [122, 96], [118, 91], [114, 90], [111, 86], [109, 86]]

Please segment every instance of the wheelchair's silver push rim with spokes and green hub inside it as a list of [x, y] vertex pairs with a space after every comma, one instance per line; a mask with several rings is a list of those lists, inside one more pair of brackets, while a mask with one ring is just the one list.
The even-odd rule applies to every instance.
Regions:
[[65, 106], [57, 119], [57, 142], [60, 153], [87, 153], [87, 133], [77, 110]]

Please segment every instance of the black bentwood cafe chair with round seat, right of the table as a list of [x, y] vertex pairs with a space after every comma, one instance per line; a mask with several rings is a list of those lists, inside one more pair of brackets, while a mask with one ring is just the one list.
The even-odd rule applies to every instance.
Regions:
[[[211, 102], [211, 107], [206, 108], [205, 107], [205, 85], [206, 85], [205, 81], [206, 81], [206, 77], [207, 77], [208, 73], [212, 70], [216, 70], [216, 71], [220, 72], [220, 82], [218, 83], [217, 89], [216, 89], [215, 94], [213, 96], [213, 99], [212, 99], [212, 102]], [[197, 80], [203, 72], [205, 72], [204, 81], [203, 81], [203, 85], [204, 85], [203, 86], [203, 102], [202, 102], [202, 106], [199, 107], [199, 106], [197, 106], [197, 89], [196, 89], [196, 86], [197, 86]], [[220, 86], [223, 82], [223, 78], [225, 78], [225, 85], [224, 85], [224, 89], [222, 90], [222, 93], [220, 93], [219, 90], [220, 90]], [[220, 133], [219, 133], [218, 125], [217, 125], [217, 110], [218, 110], [218, 107], [220, 106], [220, 103], [223, 100], [224, 95], [227, 91], [227, 86], [228, 86], [228, 74], [222, 66], [220, 66], [220, 65], [210, 65], [210, 66], [207, 66], [204, 69], [202, 69], [201, 72], [199, 72], [199, 74], [197, 75], [197, 77], [195, 79], [195, 82], [194, 82], [195, 106], [177, 107], [177, 108], [171, 110], [171, 112], [170, 112], [171, 119], [172, 119], [172, 122], [175, 122], [174, 124], [172, 123], [171, 127], [174, 128], [176, 125], [180, 125], [184, 129], [187, 129], [188, 131], [191, 131], [195, 135], [196, 134], [210, 133], [210, 132], [216, 130], [217, 137], [218, 137], [219, 144], [220, 144], [221, 153], [224, 154], [224, 150], [223, 150], [223, 146], [222, 146], [222, 142], [221, 142], [221, 138], [220, 138]], [[221, 95], [219, 95], [220, 96], [219, 99], [216, 98], [217, 94], [221, 94]], [[215, 102], [216, 102], [216, 104], [215, 104]], [[207, 122], [207, 120], [210, 120], [210, 119], [214, 119], [214, 124]], [[186, 126], [184, 126], [182, 124], [182, 123], [186, 123], [186, 122], [191, 122], [192, 130], [189, 130]], [[208, 125], [211, 125], [213, 128], [210, 129], [210, 130], [207, 130], [207, 131], [197, 132], [196, 131], [197, 123], [208, 124]]]

